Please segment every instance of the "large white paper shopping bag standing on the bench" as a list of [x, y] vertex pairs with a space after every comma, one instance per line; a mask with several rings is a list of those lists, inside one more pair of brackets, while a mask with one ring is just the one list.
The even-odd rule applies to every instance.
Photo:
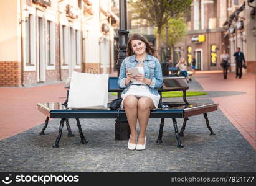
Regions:
[[68, 108], [108, 109], [108, 74], [73, 72]]

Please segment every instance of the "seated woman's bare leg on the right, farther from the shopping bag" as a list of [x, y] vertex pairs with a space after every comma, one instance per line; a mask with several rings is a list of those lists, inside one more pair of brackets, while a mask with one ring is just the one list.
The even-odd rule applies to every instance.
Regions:
[[148, 126], [150, 110], [152, 109], [154, 109], [154, 104], [151, 98], [141, 97], [138, 100], [138, 119], [140, 123], [140, 134], [137, 144], [145, 144], [146, 126]]

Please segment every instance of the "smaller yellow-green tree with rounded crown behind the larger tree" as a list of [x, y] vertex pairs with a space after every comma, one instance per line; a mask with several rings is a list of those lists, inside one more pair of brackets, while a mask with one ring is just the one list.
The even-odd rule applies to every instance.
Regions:
[[[169, 19], [168, 23], [168, 45], [171, 47], [172, 59], [174, 60], [174, 45], [183, 39], [186, 35], [186, 23], [182, 18], [178, 19]], [[163, 42], [166, 45], [166, 29], [165, 26], [161, 31], [161, 38], [163, 38]], [[173, 61], [174, 63], [174, 61]]]

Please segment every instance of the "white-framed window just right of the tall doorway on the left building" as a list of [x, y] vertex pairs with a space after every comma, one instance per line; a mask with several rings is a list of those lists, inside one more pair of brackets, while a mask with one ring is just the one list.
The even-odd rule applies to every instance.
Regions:
[[45, 44], [46, 44], [46, 64], [48, 66], [54, 66], [54, 56], [55, 56], [55, 46], [54, 46], [54, 24], [52, 21], [47, 20], [46, 25], [46, 35], [45, 35]]

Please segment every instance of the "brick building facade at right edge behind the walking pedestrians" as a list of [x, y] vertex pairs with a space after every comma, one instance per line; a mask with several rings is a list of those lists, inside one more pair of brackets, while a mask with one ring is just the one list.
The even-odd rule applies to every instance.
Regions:
[[232, 71], [235, 71], [235, 59], [232, 56], [239, 47], [244, 53], [247, 69], [245, 73], [256, 73], [256, 1], [228, 2], [228, 17], [223, 27], [225, 37], [229, 38], [229, 51]]

